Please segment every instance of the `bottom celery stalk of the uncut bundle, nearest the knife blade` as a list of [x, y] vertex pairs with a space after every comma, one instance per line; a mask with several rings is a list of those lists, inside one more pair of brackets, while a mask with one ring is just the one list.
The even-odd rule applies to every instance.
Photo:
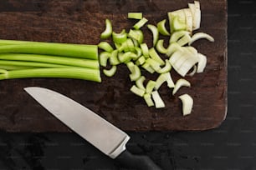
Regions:
[[72, 67], [72, 68], [32, 68], [23, 70], [1, 71], [0, 80], [28, 77], [58, 77], [75, 78], [94, 82], [101, 82], [100, 69]]

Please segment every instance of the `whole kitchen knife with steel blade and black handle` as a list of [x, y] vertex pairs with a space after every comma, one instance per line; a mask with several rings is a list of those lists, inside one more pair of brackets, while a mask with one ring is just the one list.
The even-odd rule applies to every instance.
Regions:
[[125, 168], [161, 170], [151, 158], [127, 151], [125, 144], [130, 137], [87, 107], [44, 87], [25, 87], [24, 90], [74, 133]]

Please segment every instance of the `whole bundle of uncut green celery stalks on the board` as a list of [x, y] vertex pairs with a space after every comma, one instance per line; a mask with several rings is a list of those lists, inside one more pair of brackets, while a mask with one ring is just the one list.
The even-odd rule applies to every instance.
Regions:
[[0, 80], [77, 78], [101, 82], [96, 45], [0, 40]]

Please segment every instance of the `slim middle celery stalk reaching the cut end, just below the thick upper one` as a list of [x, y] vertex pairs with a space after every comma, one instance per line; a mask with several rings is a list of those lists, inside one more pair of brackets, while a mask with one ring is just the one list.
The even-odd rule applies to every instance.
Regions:
[[46, 62], [59, 65], [67, 65], [74, 67], [90, 67], [99, 68], [99, 62], [92, 59], [60, 57], [39, 54], [24, 53], [3, 53], [0, 54], [0, 60], [27, 61], [27, 62]]

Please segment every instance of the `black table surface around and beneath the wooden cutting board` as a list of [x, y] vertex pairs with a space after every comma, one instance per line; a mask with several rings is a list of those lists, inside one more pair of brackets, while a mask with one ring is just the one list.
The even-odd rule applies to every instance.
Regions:
[[[165, 170], [256, 169], [256, 2], [228, 1], [228, 115], [204, 132], [129, 133]], [[0, 133], [0, 169], [120, 169], [74, 133]]]

